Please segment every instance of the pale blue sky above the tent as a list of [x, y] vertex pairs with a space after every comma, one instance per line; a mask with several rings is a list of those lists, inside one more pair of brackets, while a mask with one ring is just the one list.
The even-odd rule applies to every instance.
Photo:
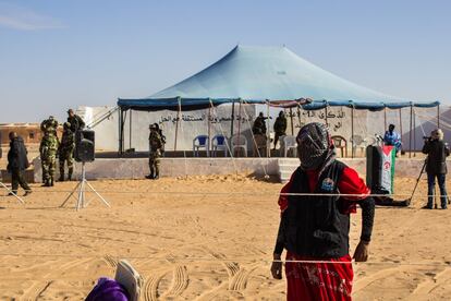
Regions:
[[0, 0], [0, 123], [151, 95], [237, 43], [451, 105], [450, 14], [446, 0]]

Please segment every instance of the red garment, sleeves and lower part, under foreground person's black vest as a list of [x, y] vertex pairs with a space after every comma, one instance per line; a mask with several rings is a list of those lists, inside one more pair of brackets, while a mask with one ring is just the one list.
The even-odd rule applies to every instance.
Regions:
[[[281, 212], [288, 208], [288, 195], [292, 182], [290, 181], [282, 188], [279, 196], [279, 206]], [[319, 174], [317, 171], [307, 171], [309, 191], [315, 191], [318, 183]], [[358, 173], [349, 167], [343, 169], [338, 190], [341, 194], [355, 194], [355, 196], [343, 196], [340, 198], [340, 210], [342, 214], [352, 214], [356, 212], [356, 201], [363, 200], [370, 194], [370, 190], [365, 182], [358, 177]], [[304, 257], [287, 253], [287, 260], [294, 261], [322, 261], [322, 262], [352, 262], [348, 254], [340, 258], [314, 258]], [[352, 281], [354, 272], [352, 264], [332, 264], [332, 263], [287, 263], [287, 300], [289, 301], [345, 301], [351, 300]]]

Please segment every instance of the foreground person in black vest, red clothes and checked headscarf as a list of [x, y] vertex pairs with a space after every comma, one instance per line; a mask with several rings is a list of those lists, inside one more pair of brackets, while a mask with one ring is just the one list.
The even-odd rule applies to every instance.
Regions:
[[281, 220], [271, 274], [282, 278], [281, 254], [287, 250], [288, 300], [351, 300], [354, 276], [349, 255], [350, 214], [356, 212], [357, 204], [362, 207], [362, 234], [354, 258], [365, 262], [374, 200], [357, 172], [336, 159], [325, 124], [304, 125], [296, 141], [301, 166], [279, 196]]

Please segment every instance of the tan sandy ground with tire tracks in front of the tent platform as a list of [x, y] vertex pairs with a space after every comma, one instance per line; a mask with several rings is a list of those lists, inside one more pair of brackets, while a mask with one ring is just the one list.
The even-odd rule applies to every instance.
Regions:
[[[414, 179], [397, 179], [409, 194]], [[75, 182], [34, 185], [21, 205], [0, 197], [0, 300], [83, 300], [129, 258], [145, 279], [143, 300], [283, 300], [270, 277], [281, 184], [245, 176], [93, 181], [87, 208], [59, 208]], [[357, 264], [355, 300], [449, 300], [450, 210], [378, 208], [373, 264]], [[183, 192], [183, 193], [181, 193]], [[359, 234], [352, 217], [352, 250]], [[409, 264], [411, 263], [411, 264]], [[436, 263], [436, 264], [434, 264]]]

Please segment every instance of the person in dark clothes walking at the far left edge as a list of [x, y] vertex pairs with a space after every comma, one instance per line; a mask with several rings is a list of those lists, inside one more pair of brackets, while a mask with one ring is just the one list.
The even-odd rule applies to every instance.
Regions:
[[25, 190], [25, 195], [32, 193], [32, 189], [25, 180], [24, 171], [29, 167], [27, 150], [24, 140], [16, 132], [11, 132], [10, 150], [8, 152], [7, 170], [11, 173], [11, 191], [9, 195], [17, 194], [19, 185]]

